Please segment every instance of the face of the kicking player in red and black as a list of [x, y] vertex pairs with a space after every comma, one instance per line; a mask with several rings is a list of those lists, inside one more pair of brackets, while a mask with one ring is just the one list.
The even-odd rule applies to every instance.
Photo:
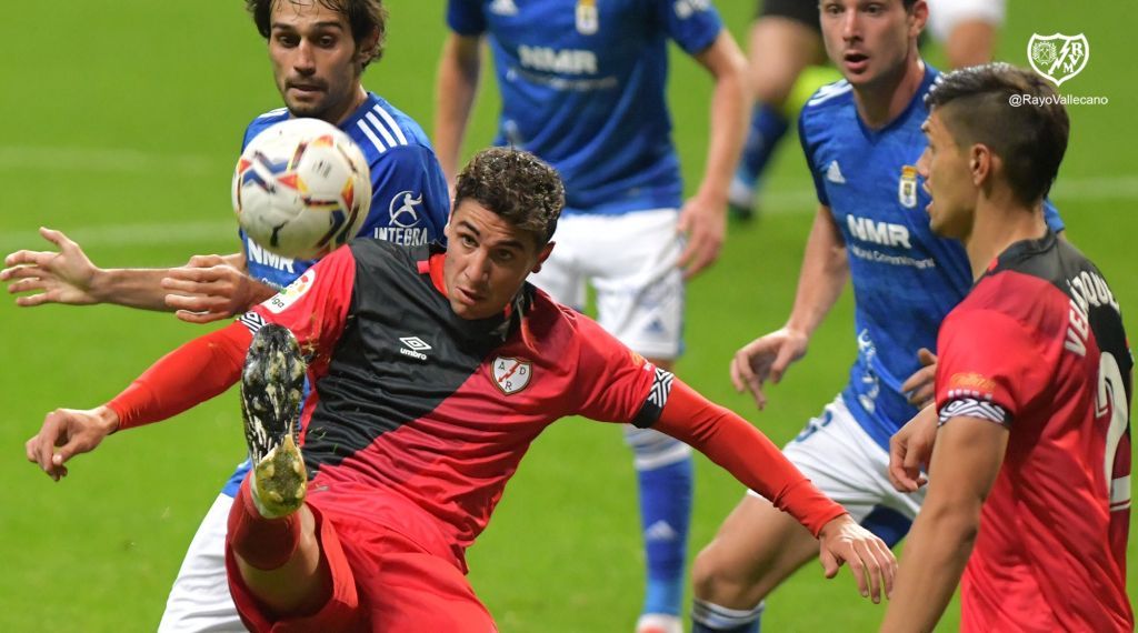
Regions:
[[451, 214], [446, 239], [446, 293], [465, 319], [502, 314], [553, 249], [538, 249], [531, 234], [470, 199]]

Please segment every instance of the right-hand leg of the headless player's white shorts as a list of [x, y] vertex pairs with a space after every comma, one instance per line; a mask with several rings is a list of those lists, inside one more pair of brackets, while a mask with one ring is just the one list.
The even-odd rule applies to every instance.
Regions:
[[659, 360], [675, 359], [681, 349], [678, 217], [676, 209], [650, 209], [589, 218], [589, 238], [577, 249], [596, 289], [597, 322], [636, 352]]

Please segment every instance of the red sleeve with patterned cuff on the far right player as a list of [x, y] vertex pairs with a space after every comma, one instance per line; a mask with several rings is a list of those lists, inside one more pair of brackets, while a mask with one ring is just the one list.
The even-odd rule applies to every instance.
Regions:
[[1015, 318], [990, 308], [957, 309], [937, 340], [941, 424], [970, 416], [1011, 425], [1047, 384], [1044, 350]]

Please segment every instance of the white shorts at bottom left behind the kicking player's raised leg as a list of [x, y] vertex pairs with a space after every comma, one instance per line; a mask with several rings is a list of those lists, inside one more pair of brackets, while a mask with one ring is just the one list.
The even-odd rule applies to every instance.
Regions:
[[225, 575], [225, 532], [233, 498], [218, 494], [185, 551], [166, 600], [160, 633], [244, 632]]

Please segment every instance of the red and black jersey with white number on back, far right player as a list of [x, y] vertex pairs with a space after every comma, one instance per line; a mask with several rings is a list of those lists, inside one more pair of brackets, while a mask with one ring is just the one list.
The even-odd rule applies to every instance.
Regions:
[[1094, 264], [1052, 232], [992, 263], [941, 325], [941, 422], [1006, 425], [962, 583], [964, 631], [1133, 631], [1133, 360]]

